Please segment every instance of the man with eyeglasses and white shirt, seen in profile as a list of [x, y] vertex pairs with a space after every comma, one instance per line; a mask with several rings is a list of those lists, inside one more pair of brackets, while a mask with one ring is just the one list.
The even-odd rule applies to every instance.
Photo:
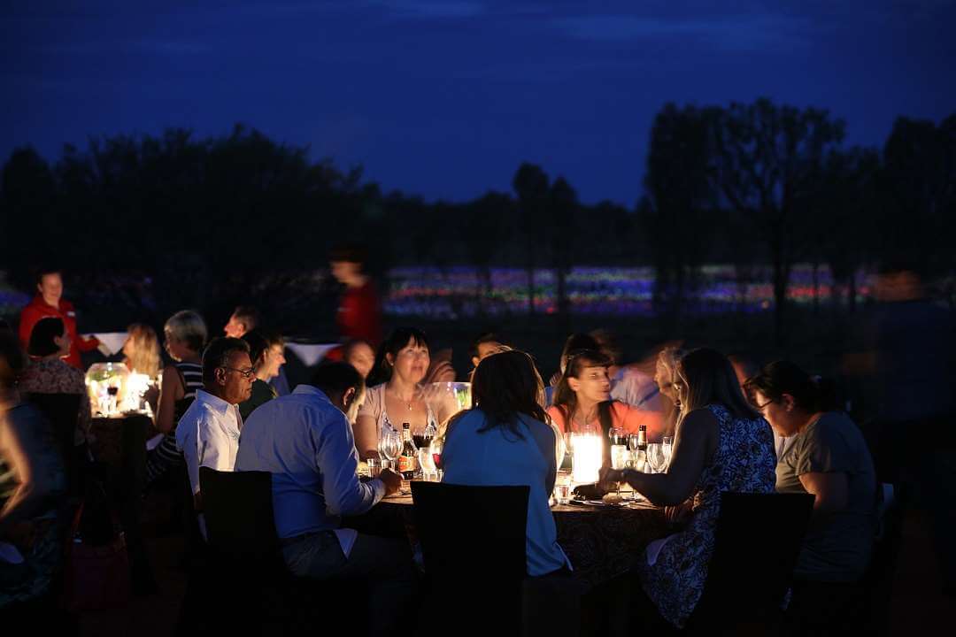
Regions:
[[199, 491], [199, 468], [234, 471], [242, 416], [238, 404], [249, 399], [255, 371], [249, 344], [239, 338], [216, 338], [203, 353], [203, 389], [176, 426], [176, 445], [183, 452], [199, 529], [206, 537]]

